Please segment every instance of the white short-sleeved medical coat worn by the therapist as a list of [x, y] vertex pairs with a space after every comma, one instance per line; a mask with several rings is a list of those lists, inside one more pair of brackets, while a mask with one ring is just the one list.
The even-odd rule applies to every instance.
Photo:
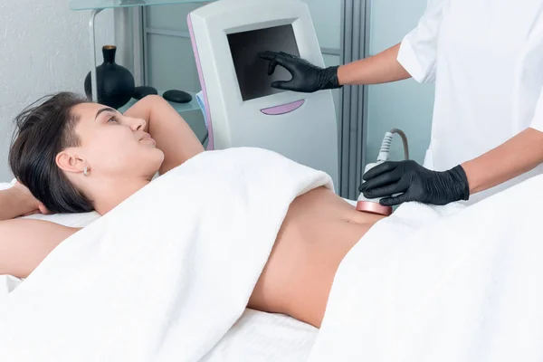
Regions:
[[523, 129], [543, 131], [543, 0], [428, 0], [397, 60], [415, 81], [435, 82], [425, 167], [446, 170]]

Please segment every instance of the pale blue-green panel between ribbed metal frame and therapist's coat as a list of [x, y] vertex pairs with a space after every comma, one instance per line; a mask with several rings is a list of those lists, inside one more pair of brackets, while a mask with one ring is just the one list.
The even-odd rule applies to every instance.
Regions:
[[[374, 55], [401, 42], [424, 13], [427, 0], [371, 1], [369, 52]], [[403, 129], [411, 158], [422, 163], [430, 142], [433, 84], [413, 80], [368, 87], [367, 162], [375, 162], [387, 130]], [[402, 141], [395, 137], [390, 160], [403, 159]]]

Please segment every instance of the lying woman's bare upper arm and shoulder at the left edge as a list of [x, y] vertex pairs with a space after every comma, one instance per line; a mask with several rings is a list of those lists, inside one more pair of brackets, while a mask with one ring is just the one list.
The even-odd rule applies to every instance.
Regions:
[[26, 278], [54, 248], [79, 230], [43, 220], [0, 221], [0, 274]]

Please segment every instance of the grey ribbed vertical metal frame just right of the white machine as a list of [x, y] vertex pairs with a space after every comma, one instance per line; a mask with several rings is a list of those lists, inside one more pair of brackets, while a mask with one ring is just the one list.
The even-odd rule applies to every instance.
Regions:
[[[367, 56], [369, 1], [344, 0], [341, 10], [341, 63], [346, 64]], [[344, 86], [341, 106], [339, 195], [356, 200], [366, 159], [367, 86]]]

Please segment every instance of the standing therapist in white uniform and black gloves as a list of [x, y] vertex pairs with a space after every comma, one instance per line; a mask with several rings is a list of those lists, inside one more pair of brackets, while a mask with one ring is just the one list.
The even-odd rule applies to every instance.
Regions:
[[445, 205], [477, 201], [542, 172], [543, 0], [428, 0], [401, 43], [364, 60], [320, 69], [265, 52], [312, 92], [413, 78], [435, 82], [432, 137], [424, 167], [386, 162], [364, 175], [368, 198]]

